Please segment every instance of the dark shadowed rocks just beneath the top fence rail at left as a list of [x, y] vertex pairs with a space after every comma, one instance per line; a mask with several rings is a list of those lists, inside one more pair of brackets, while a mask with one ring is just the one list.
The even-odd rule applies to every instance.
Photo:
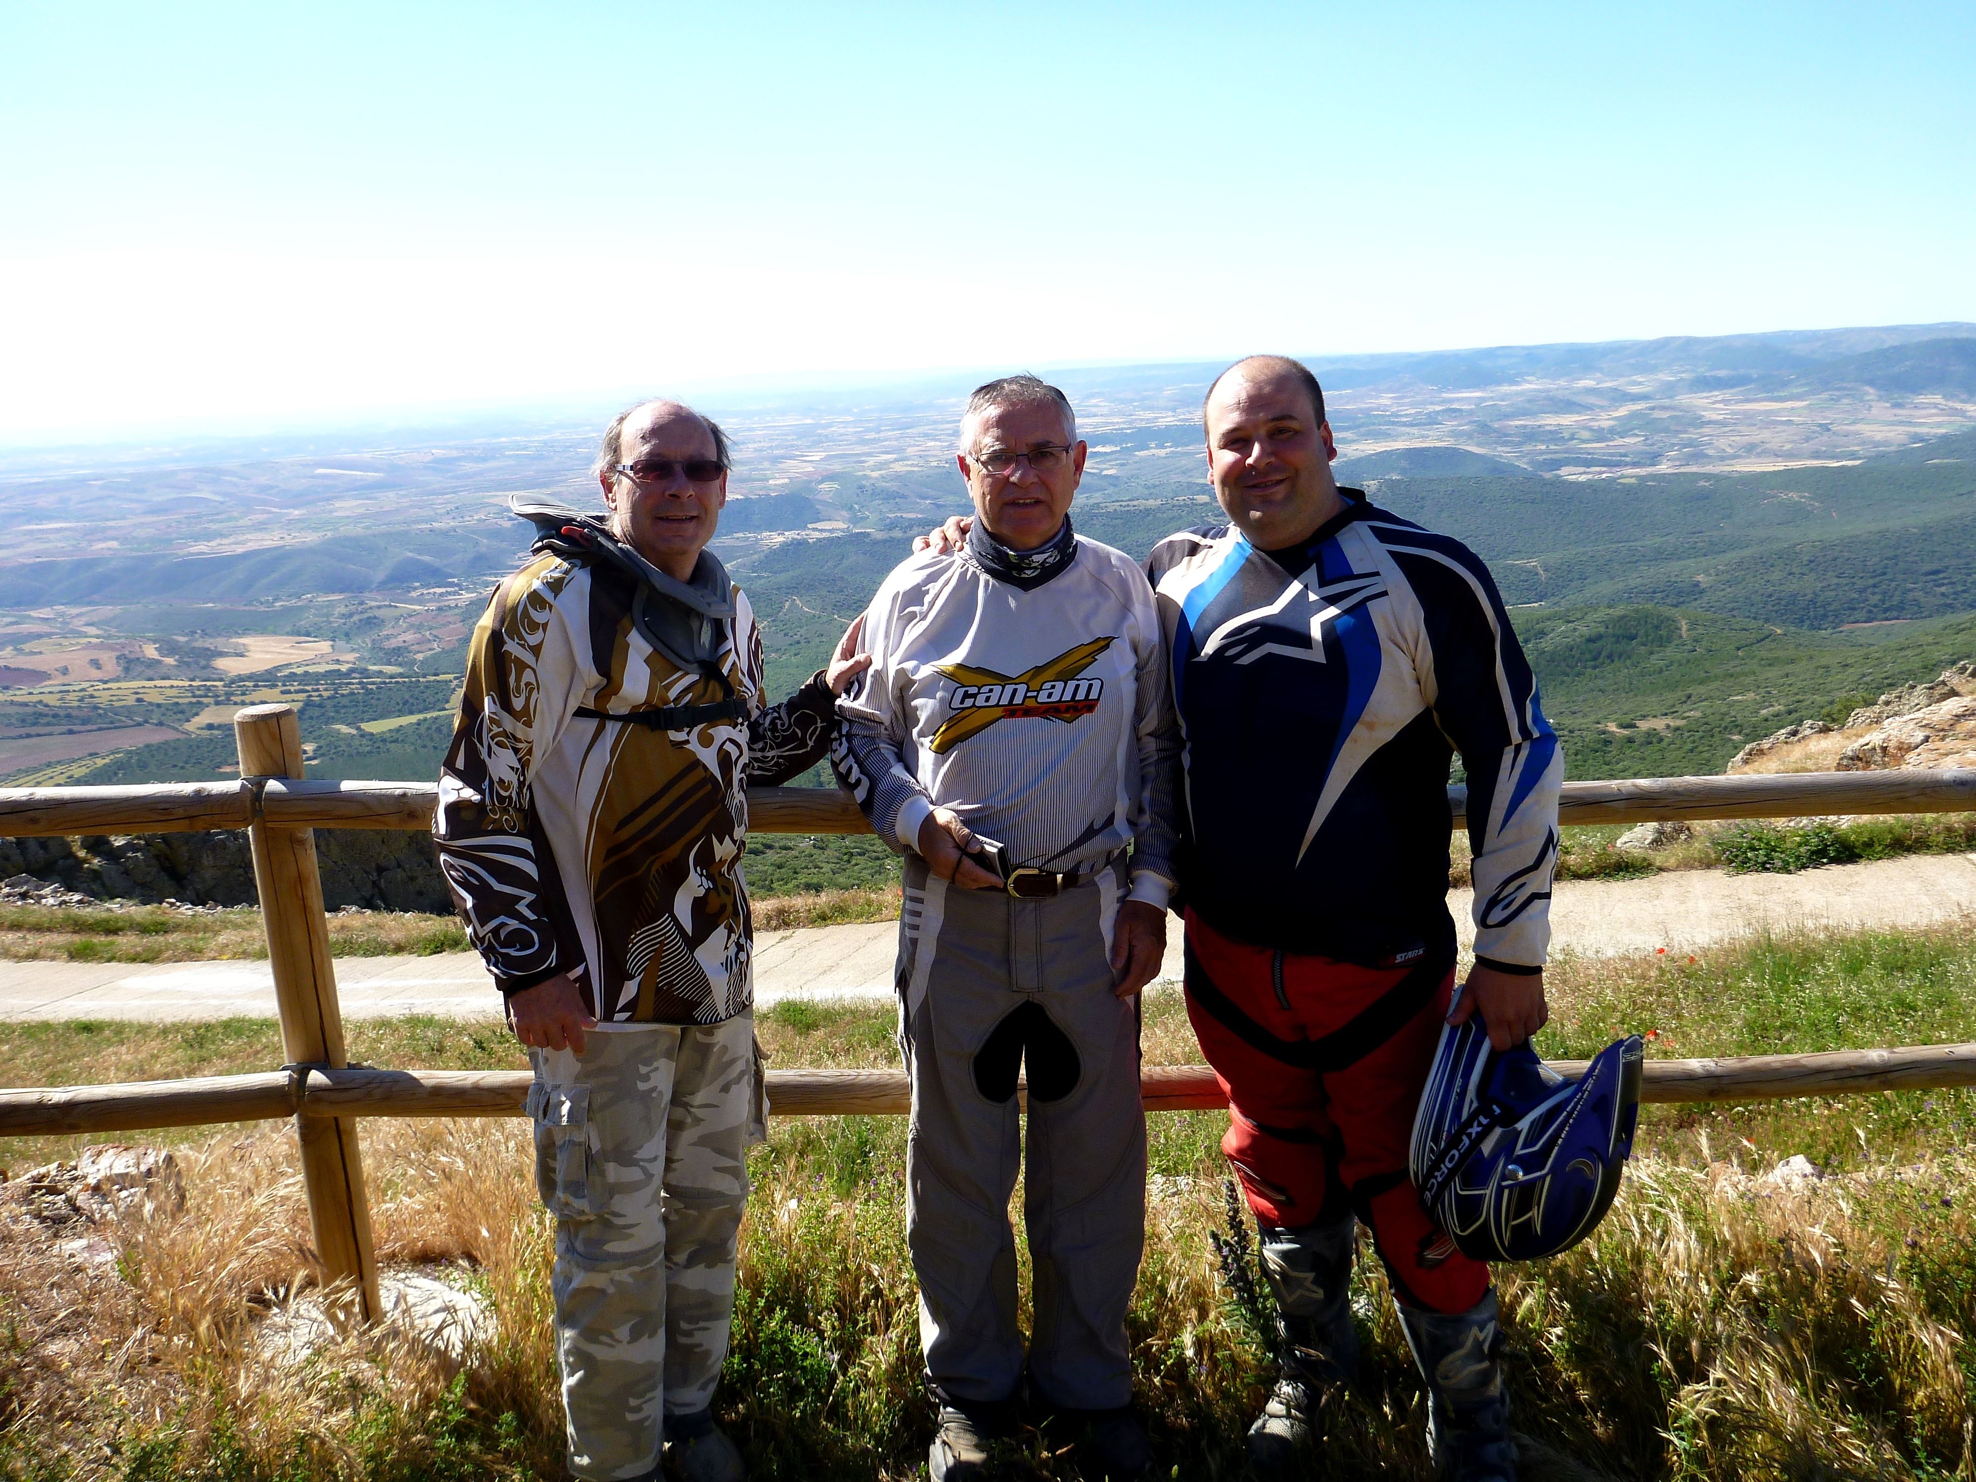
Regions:
[[[322, 903], [379, 911], [451, 913], [431, 836], [373, 828], [318, 828]], [[91, 834], [0, 838], [0, 879], [32, 875], [93, 901], [255, 905], [245, 830], [209, 834]]]

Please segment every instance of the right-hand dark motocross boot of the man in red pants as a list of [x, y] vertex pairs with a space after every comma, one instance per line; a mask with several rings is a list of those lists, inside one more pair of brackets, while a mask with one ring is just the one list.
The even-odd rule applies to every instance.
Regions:
[[1399, 1304], [1413, 1361], [1427, 1377], [1427, 1450], [1444, 1482], [1516, 1482], [1510, 1395], [1496, 1352], [1496, 1288], [1444, 1318]]

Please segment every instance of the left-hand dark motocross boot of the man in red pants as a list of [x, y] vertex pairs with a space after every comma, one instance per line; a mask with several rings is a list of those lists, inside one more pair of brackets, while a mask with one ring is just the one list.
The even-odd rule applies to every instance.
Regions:
[[1302, 1229], [1259, 1223], [1257, 1233], [1282, 1344], [1276, 1387], [1249, 1427], [1249, 1466], [1265, 1478], [1286, 1478], [1296, 1472], [1298, 1452], [1316, 1441], [1326, 1391], [1358, 1377], [1358, 1330], [1352, 1326], [1358, 1221], [1348, 1213]]

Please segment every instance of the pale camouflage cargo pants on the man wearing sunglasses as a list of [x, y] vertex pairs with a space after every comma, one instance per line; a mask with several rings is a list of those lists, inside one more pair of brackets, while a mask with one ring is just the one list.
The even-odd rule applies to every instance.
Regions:
[[727, 1358], [747, 1146], [767, 1111], [755, 1020], [593, 1031], [581, 1055], [530, 1061], [569, 1470], [646, 1476], [662, 1415], [703, 1409]]

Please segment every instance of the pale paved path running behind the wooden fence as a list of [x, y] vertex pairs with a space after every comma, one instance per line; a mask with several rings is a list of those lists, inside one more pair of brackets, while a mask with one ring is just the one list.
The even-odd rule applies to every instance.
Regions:
[[[1448, 895], [1468, 929], [1468, 891]], [[1976, 854], [1911, 856], [1810, 869], [1802, 875], [1727, 875], [1691, 869], [1650, 879], [1557, 885], [1555, 947], [1640, 952], [1705, 947], [1765, 927], [1929, 927], [1976, 921]], [[755, 998], [889, 998], [897, 923], [765, 933], [755, 948]], [[1162, 976], [1180, 976], [1180, 933]], [[346, 956], [336, 962], [344, 1018], [437, 1014], [494, 1018], [496, 998], [480, 958]], [[0, 1020], [211, 1020], [275, 1016], [265, 962], [0, 962]]]

